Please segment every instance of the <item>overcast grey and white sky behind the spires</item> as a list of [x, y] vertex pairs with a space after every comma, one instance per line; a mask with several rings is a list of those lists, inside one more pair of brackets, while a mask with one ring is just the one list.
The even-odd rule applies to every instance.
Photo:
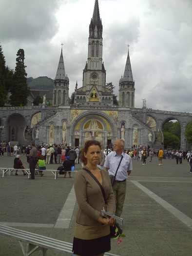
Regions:
[[[98, 0], [106, 82], [124, 74], [127, 45], [135, 107], [192, 112], [192, 0]], [[0, 45], [15, 69], [24, 49], [27, 77], [55, 78], [61, 43], [70, 96], [82, 86], [95, 0], [0, 0]]]

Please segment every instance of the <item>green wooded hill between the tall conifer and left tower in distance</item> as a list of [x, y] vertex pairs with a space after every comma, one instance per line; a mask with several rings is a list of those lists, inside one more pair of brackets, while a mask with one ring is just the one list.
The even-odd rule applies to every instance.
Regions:
[[34, 90], [53, 90], [53, 79], [48, 77], [27, 78], [27, 84]]

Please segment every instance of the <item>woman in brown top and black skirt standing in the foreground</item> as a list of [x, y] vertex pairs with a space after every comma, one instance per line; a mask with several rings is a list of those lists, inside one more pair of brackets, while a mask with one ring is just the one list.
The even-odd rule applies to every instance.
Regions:
[[79, 170], [75, 176], [74, 187], [78, 203], [76, 216], [73, 252], [77, 256], [103, 256], [111, 250], [110, 225], [114, 226], [115, 218], [103, 218], [101, 210], [114, 214], [115, 197], [109, 174], [100, 170], [97, 163], [100, 161], [101, 146], [96, 140], [88, 140], [82, 151], [81, 160], [100, 182], [107, 201], [99, 185], [86, 170]]

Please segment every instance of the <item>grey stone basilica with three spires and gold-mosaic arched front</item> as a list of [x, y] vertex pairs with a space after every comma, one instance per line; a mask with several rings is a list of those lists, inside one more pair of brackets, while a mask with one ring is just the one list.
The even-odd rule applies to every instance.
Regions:
[[[86, 140], [96, 139], [106, 147], [116, 138], [125, 141], [125, 148], [134, 145], [163, 147], [163, 125], [177, 119], [181, 125], [181, 149], [186, 149], [185, 127], [192, 120], [191, 113], [177, 113], [134, 107], [135, 83], [129, 50], [124, 75], [119, 78], [119, 106], [113, 102], [113, 85], [106, 83], [102, 59], [103, 25], [98, 0], [89, 25], [88, 56], [82, 74], [82, 86], [76, 84], [74, 103], [69, 99], [70, 79], [65, 74], [63, 53], [54, 79], [53, 105], [0, 108], [1, 139], [29, 144], [60, 144], [82, 147]], [[82, 67], [83, 68], [83, 67]], [[27, 129], [26, 129], [27, 127]], [[30, 134], [29, 134], [30, 131]], [[30, 135], [30, 136], [29, 136]]]

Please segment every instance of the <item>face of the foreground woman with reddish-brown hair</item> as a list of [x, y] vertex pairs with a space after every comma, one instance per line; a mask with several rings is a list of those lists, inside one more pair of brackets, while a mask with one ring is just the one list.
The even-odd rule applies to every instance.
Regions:
[[85, 158], [87, 158], [87, 162], [93, 165], [96, 165], [101, 158], [101, 150], [97, 145], [92, 145], [88, 148], [87, 153], [84, 152]]

